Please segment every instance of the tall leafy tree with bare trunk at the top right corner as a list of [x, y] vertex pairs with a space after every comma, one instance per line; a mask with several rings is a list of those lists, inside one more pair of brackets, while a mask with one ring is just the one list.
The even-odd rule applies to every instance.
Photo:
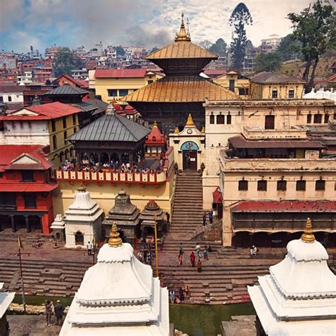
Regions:
[[293, 36], [301, 43], [301, 52], [306, 62], [303, 79], [306, 81], [307, 93], [313, 88], [320, 55], [327, 48], [335, 47], [336, 11], [330, 4], [323, 5], [318, 0], [299, 14], [289, 13], [288, 18], [293, 23]]

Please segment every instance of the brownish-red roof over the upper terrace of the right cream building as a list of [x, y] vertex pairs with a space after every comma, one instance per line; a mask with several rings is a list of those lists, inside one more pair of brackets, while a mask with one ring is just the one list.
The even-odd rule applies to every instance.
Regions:
[[242, 135], [229, 138], [235, 148], [324, 148], [317, 141], [311, 140], [246, 140]]

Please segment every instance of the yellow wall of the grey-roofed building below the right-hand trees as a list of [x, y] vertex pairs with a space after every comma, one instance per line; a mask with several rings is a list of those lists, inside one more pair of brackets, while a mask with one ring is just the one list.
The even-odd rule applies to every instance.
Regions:
[[272, 91], [278, 91], [278, 99], [289, 99], [289, 91], [294, 91], [293, 99], [302, 99], [304, 84], [302, 83], [284, 83], [284, 84], [260, 84], [251, 82], [250, 98], [251, 99], [271, 99]]

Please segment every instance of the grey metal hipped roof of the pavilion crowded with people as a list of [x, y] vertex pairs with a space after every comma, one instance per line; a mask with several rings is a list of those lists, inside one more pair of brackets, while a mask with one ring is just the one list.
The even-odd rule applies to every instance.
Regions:
[[70, 141], [138, 142], [150, 133], [150, 128], [118, 114], [106, 114], [69, 137]]

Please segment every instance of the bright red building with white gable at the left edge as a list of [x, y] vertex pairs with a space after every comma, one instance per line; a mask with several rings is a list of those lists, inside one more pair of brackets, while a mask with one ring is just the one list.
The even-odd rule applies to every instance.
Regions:
[[41, 145], [0, 145], [0, 230], [50, 234], [58, 186], [50, 167]]

